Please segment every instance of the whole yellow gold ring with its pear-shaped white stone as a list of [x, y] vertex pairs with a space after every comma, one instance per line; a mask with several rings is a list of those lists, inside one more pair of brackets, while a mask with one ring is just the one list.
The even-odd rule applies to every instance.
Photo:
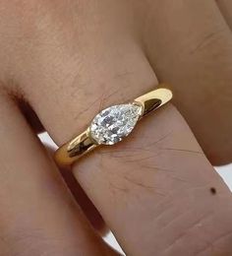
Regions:
[[[163, 85], [160, 85], [163, 86]], [[61, 146], [55, 153], [59, 165], [69, 165], [100, 145], [114, 145], [128, 136], [137, 122], [172, 98], [172, 92], [159, 88], [133, 102], [109, 106], [101, 110], [87, 130]]]

